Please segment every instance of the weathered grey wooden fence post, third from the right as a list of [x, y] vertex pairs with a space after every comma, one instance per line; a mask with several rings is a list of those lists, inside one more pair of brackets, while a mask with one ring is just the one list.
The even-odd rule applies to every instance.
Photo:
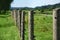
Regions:
[[21, 40], [25, 40], [24, 29], [25, 29], [25, 13], [24, 13], [24, 11], [22, 11], [22, 14], [21, 14]]

